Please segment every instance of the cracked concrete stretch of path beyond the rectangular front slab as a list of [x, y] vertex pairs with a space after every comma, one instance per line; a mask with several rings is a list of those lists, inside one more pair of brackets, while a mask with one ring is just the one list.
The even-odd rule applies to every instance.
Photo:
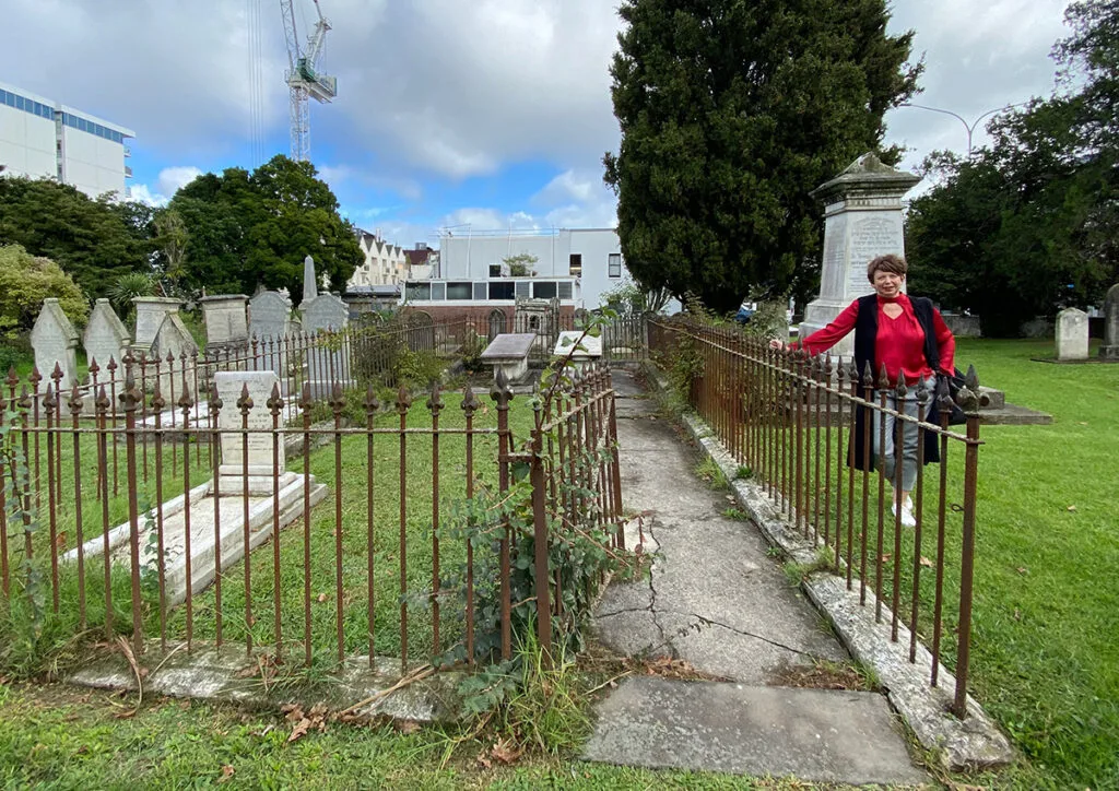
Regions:
[[[620, 393], [633, 387], [624, 374], [614, 383]], [[603, 643], [627, 655], [673, 656], [703, 672], [759, 685], [790, 665], [847, 659], [767, 557], [758, 531], [723, 514], [732, 505], [726, 493], [695, 477], [698, 459], [669, 424], [624, 421], [618, 435], [626, 503], [643, 509], [642, 529], [659, 552], [649, 578], [611, 585], [603, 594], [595, 611]]]

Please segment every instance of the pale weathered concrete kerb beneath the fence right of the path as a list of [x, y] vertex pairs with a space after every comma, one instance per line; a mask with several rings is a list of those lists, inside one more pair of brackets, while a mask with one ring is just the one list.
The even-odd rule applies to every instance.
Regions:
[[[667, 383], [651, 366], [646, 366], [646, 373], [658, 388], [667, 388]], [[709, 427], [697, 415], [685, 413], [681, 423], [703, 452], [718, 464], [735, 498], [765, 539], [790, 561], [805, 566], [814, 564], [822, 542], [816, 545], [805, 539], [756, 484], [735, 479], [737, 464], [718, 440], [709, 435]], [[919, 642], [915, 662], [909, 661], [909, 629], [899, 624], [897, 642], [891, 641], [890, 623], [875, 623], [873, 591], [867, 592], [866, 605], [859, 605], [857, 590], [847, 591], [840, 577], [826, 572], [809, 575], [800, 587], [833, 625], [850, 655], [874, 668], [891, 705], [921, 746], [934, 751], [947, 770], [1000, 766], [1015, 760], [1007, 737], [971, 696], [968, 696], [966, 719], [960, 721], [949, 712], [956, 694], [956, 677], [941, 665], [940, 686], [929, 686], [932, 655]]]

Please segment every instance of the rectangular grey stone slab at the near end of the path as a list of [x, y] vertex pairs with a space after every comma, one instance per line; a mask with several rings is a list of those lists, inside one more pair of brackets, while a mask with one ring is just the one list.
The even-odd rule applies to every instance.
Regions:
[[589, 761], [831, 783], [919, 785], [885, 699], [874, 693], [641, 677], [598, 707]]

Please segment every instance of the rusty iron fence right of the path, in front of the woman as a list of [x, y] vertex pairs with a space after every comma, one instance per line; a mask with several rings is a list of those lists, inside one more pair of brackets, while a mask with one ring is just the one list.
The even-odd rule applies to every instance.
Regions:
[[[919, 634], [931, 642], [932, 686], [955, 634], [953, 712], [963, 717], [981, 444], [975, 371], [957, 396], [967, 416], [959, 432], [948, 423], [952, 397], [947, 385], [935, 392], [918, 387], [913, 418], [887, 407], [887, 394], [901, 401], [912, 388], [887, 382], [884, 371], [858, 371], [852, 359], [771, 349], [765, 339], [741, 330], [686, 319], [650, 320], [649, 347], [740, 472], [763, 487], [800, 535], [827, 547], [828, 565], [846, 578], [848, 590], [857, 587], [862, 605], [873, 599], [875, 619], [888, 620], [891, 639], [899, 640], [900, 623], [909, 628], [910, 661], [915, 661]], [[859, 411], [867, 420], [857, 420]], [[897, 469], [905, 424], [923, 429], [919, 459], [924, 443], [939, 445], [940, 462], [928, 470], [918, 467], [913, 528], [903, 527], [900, 509], [891, 511], [885, 475], [866, 471], [872, 462], [883, 470], [885, 461], [881, 452], [871, 455], [872, 445], [885, 446], [887, 424], [871, 420], [874, 415], [895, 418]], [[865, 456], [848, 463], [857, 461], [849, 442], [856, 423]]]

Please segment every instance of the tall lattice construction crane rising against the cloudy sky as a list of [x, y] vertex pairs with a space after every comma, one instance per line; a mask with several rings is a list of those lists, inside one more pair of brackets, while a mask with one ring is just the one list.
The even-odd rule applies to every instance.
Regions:
[[319, 15], [319, 21], [307, 37], [307, 48], [300, 51], [293, 0], [280, 0], [284, 35], [288, 38], [288, 72], [284, 78], [291, 92], [291, 158], [297, 162], [311, 160], [311, 109], [308, 100], [329, 102], [338, 94], [338, 81], [330, 75], [319, 74], [322, 41], [330, 29], [330, 22], [322, 16], [319, 0], [314, 0], [314, 10]]

